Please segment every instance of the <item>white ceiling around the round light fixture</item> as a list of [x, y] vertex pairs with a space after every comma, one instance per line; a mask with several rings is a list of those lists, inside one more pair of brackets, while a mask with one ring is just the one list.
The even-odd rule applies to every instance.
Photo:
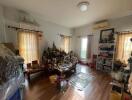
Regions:
[[132, 14], [132, 0], [85, 0], [90, 2], [86, 12], [77, 8], [80, 1], [83, 0], [0, 0], [0, 3], [69, 28]]

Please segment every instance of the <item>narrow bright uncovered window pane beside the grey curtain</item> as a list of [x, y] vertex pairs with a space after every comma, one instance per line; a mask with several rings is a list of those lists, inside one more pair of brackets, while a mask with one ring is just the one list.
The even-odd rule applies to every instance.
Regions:
[[81, 58], [83, 59], [87, 58], [87, 43], [88, 43], [87, 37], [81, 38]]

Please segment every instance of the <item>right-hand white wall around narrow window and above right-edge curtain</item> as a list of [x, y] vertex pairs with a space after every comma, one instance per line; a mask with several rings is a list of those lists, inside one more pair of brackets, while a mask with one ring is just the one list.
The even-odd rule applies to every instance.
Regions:
[[[111, 19], [109, 20], [110, 27], [115, 28], [115, 31], [132, 31], [132, 15], [126, 16], [122, 18], [117, 19]], [[92, 54], [98, 53], [98, 43], [99, 43], [99, 37], [100, 37], [100, 30], [93, 30], [92, 29], [93, 24], [81, 26], [74, 29], [74, 51], [80, 55], [80, 47], [79, 47], [79, 41], [77, 36], [87, 36], [87, 35], [93, 35], [93, 43], [92, 43]]]

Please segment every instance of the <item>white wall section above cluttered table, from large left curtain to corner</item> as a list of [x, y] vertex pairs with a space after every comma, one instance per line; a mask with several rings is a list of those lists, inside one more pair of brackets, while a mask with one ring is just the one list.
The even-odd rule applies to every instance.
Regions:
[[[59, 34], [63, 35], [71, 35], [72, 30], [69, 28], [53, 24], [50, 22], [46, 22], [43, 20], [37, 20], [37, 22], [40, 24], [40, 30], [43, 31], [42, 40], [40, 41], [41, 47], [50, 46], [52, 47], [53, 42], [55, 42], [57, 48], [61, 48], [61, 37]], [[41, 48], [43, 51], [44, 48]]]

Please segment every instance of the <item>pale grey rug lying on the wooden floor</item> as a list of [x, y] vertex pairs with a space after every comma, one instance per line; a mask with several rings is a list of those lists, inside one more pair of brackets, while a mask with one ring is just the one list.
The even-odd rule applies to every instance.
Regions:
[[94, 77], [90, 74], [78, 73], [71, 77], [69, 83], [78, 90], [83, 91], [93, 79]]

